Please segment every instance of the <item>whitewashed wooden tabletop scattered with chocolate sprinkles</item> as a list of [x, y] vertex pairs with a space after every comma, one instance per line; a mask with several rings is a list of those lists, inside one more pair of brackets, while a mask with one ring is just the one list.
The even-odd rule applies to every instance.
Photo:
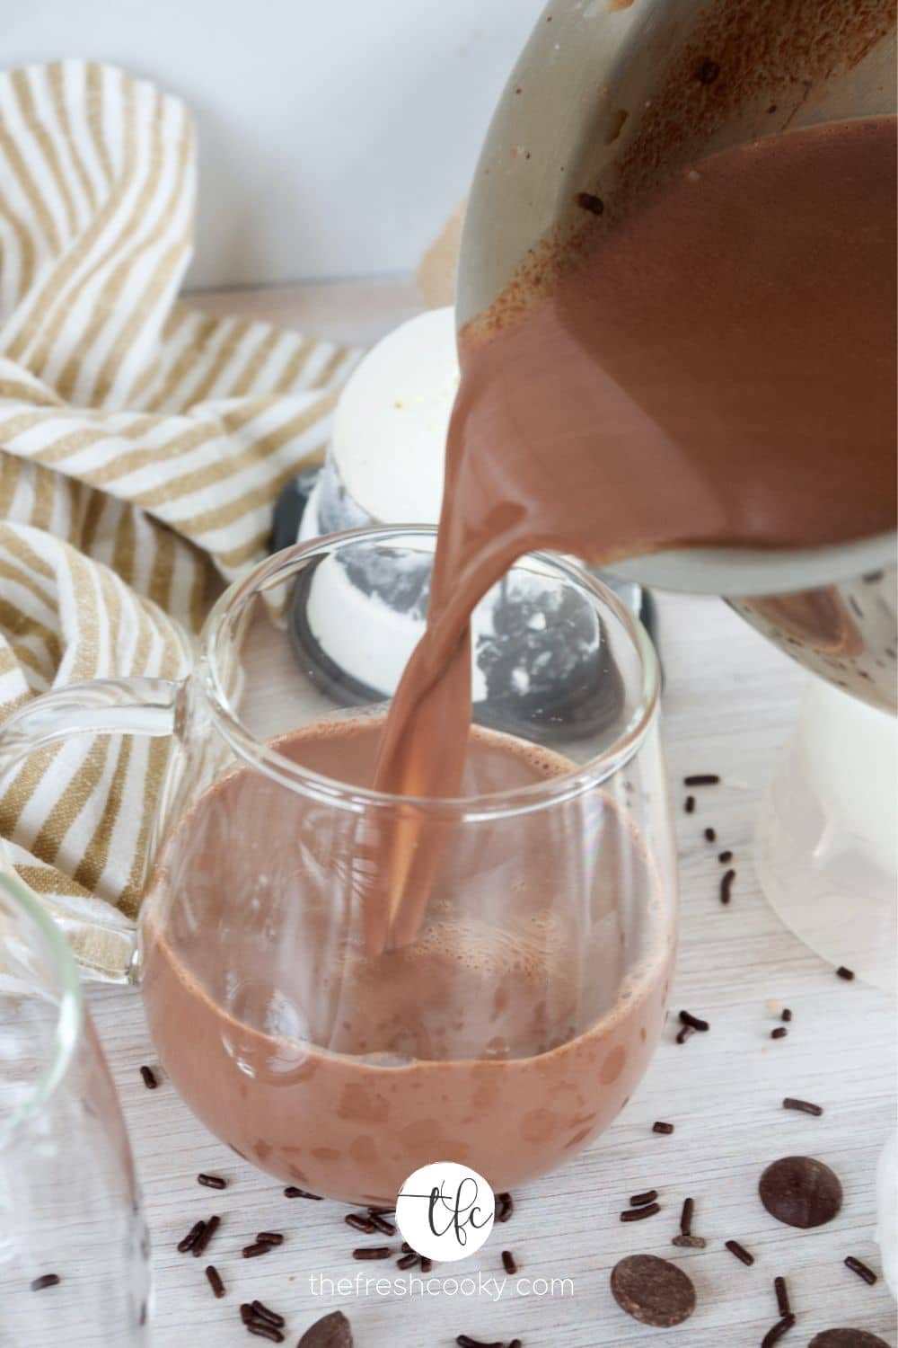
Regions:
[[[234, 291], [197, 302], [320, 332], [370, 341], [413, 313], [405, 283], [337, 284], [280, 291]], [[771, 914], [751, 868], [751, 830], [759, 794], [794, 721], [802, 673], [769, 647], [722, 603], [662, 597], [661, 651], [666, 674], [665, 724], [675, 799], [687, 772], [712, 771], [724, 785], [699, 795], [695, 814], [679, 813], [683, 891], [681, 946], [673, 1007], [711, 1020], [708, 1034], [684, 1046], [665, 1033], [649, 1073], [605, 1136], [560, 1173], [516, 1194], [512, 1221], [498, 1227], [471, 1260], [443, 1277], [501, 1275], [499, 1252], [513, 1250], [520, 1275], [569, 1278], [574, 1295], [522, 1295], [509, 1279], [501, 1301], [487, 1297], [320, 1297], [312, 1275], [334, 1281], [394, 1274], [393, 1264], [357, 1264], [345, 1209], [289, 1201], [195, 1122], [163, 1082], [144, 1089], [137, 1068], [153, 1050], [132, 989], [92, 988], [90, 1006], [131, 1128], [153, 1240], [156, 1348], [228, 1348], [249, 1339], [237, 1308], [261, 1298], [288, 1317], [287, 1343], [329, 1309], [350, 1317], [357, 1348], [439, 1348], [464, 1332], [486, 1341], [518, 1336], [525, 1348], [688, 1345], [751, 1348], [777, 1320], [773, 1278], [789, 1283], [796, 1328], [785, 1348], [804, 1348], [820, 1329], [852, 1325], [895, 1341], [894, 1302], [883, 1279], [868, 1287], [843, 1266], [848, 1254], [879, 1270], [872, 1240], [874, 1177], [895, 1119], [894, 1008], [880, 992], [844, 983]], [[718, 844], [703, 838], [714, 825]], [[732, 848], [738, 878], [722, 907], [716, 852]], [[793, 1010], [789, 1035], [770, 1039], [782, 1006]], [[823, 1117], [793, 1113], [782, 1097], [825, 1108]], [[652, 1123], [676, 1124], [672, 1136]], [[770, 1161], [808, 1154], [840, 1175], [845, 1202], [828, 1227], [796, 1232], [761, 1206], [757, 1181]], [[198, 1171], [222, 1174], [223, 1193], [199, 1188]], [[662, 1212], [622, 1225], [627, 1196], [660, 1190]], [[670, 1246], [683, 1200], [696, 1201], [695, 1231], [704, 1251]], [[206, 1259], [178, 1255], [175, 1243], [198, 1219], [217, 1212], [222, 1225], [209, 1251], [226, 1285], [215, 1301]], [[263, 1228], [284, 1231], [279, 1250], [244, 1260], [240, 1251]], [[501, 1232], [501, 1235], [499, 1235]], [[755, 1255], [745, 1267], [724, 1248], [735, 1237]], [[673, 1258], [695, 1282], [699, 1305], [679, 1329], [649, 1329], [625, 1316], [609, 1290], [622, 1255]], [[43, 1345], [36, 1345], [43, 1348]]]

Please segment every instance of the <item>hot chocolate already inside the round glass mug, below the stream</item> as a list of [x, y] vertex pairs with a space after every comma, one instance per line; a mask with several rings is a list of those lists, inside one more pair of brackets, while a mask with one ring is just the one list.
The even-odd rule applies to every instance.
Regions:
[[[359, 717], [276, 745], [366, 786], [382, 729]], [[569, 768], [474, 729], [463, 787]], [[143, 988], [179, 1093], [256, 1165], [351, 1202], [393, 1201], [440, 1158], [499, 1190], [560, 1165], [621, 1109], [664, 1020], [673, 898], [641, 837], [599, 790], [466, 825], [416, 940], [372, 956], [358, 828], [338, 813], [238, 768], [170, 834]]]

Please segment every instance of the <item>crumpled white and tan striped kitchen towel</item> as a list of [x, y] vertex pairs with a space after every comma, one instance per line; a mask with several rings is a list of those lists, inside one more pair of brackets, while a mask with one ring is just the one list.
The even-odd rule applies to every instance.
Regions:
[[[187, 670], [214, 578], [265, 550], [355, 353], [176, 301], [184, 105], [112, 66], [0, 74], [0, 718], [77, 678]], [[0, 834], [109, 972], [166, 741], [57, 745], [0, 780]]]

